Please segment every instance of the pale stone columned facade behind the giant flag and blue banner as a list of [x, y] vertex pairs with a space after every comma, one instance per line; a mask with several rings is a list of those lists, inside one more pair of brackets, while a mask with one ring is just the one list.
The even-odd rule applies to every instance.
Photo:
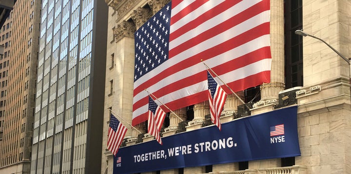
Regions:
[[[109, 5], [108, 42], [106, 57], [105, 112], [101, 173], [112, 173], [113, 155], [106, 150], [109, 116], [111, 112], [132, 120], [134, 32], [169, 0], [105, 0]], [[343, 55], [351, 53], [351, 2], [348, 0], [299, 0], [304, 31], [326, 40]], [[285, 19], [285, 21], [288, 21]], [[260, 101], [250, 110], [251, 115], [272, 111], [279, 105], [279, 93], [286, 90], [284, 77], [284, 2], [271, 0], [271, 82], [260, 86]], [[293, 31], [289, 31], [293, 32]], [[302, 39], [300, 37], [299, 39]], [[351, 109], [350, 66], [320, 40], [305, 37], [300, 50], [303, 60], [303, 85], [296, 91], [298, 105], [297, 131], [301, 156], [286, 159], [265, 159], [239, 163], [184, 168], [183, 173], [207, 172], [225, 174], [264, 174], [274, 171], [281, 174], [289, 170], [293, 174], [347, 174], [350, 167]], [[292, 52], [291, 50], [290, 52]], [[244, 92], [238, 92], [240, 98]], [[224, 107], [222, 122], [232, 121], [241, 101], [230, 95]], [[175, 111], [186, 118], [187, 109]], [[227, 114], [228, 113], [228, 114]], [[194, 105], [194, 118], [189, 120], [187, 131], [200, 129], [209, 114], [208, 102]], [[117, 118], [118, 118], [117, 116]], [[123, 122], [123, 121], [122, 121]], [[137, 136], [146, 133], [145, 124], [128, 127], [126, 145], [137, 143]], [[170, 125], [163, 136], [176, 133], [180, 121], [170, 115]], [[143, 141], [153, 137], [144, 136]], [[289, 162], [287, 162], [289, 161]], [[145, 174], [177, 174], [177, 169], [148, 172]]]

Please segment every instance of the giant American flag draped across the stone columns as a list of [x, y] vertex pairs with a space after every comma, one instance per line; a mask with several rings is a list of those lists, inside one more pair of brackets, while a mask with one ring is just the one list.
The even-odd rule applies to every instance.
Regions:
[[148, 118], [144, 89], [171, 110], [207, 100], [201, 59], [234, 92], [270, 82], [269, 20], [270, 0], [172, 0], [135, 33], [133, 125]]

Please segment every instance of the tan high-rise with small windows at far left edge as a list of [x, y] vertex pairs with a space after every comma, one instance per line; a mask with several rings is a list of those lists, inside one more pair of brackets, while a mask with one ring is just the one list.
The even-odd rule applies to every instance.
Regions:
[[29, 173], [38, 65], [40, 2], [17, 1], [1, 31], [3, 143], [0, 173]]

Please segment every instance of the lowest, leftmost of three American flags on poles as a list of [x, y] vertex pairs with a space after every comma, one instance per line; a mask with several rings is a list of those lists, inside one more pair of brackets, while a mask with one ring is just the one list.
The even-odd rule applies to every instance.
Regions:
[[127, 133], [127, 128], [111, 114], [110, 127], [107, 140], [107, 149], [116, 155], [119, 146], [122, 144], [124, 135]]

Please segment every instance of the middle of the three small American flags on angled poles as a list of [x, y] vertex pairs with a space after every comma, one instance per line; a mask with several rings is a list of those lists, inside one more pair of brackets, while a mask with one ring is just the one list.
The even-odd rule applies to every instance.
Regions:
[[158, 143], [162, 144], [159, 132], [166, 117], [166, 113], [156, 104], [149, 96], [149, 116], [148, 116], [148, 133], [155, 136]]

